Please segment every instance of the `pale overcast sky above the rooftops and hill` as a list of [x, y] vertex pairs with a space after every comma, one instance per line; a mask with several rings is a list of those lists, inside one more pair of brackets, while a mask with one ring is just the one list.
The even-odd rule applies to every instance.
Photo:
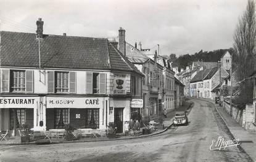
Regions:
[[160, 55], [177, 56], [230, 48], [246, 0], [0, 0], [0, 30], [44, 34], [117, 37], [126, 30], [126, 42]]

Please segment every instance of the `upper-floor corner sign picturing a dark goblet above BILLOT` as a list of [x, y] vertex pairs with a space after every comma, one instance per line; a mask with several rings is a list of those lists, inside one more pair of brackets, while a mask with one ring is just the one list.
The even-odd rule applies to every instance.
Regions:
[[126, 75], [114, 74], [114, 95], [126, 95]]

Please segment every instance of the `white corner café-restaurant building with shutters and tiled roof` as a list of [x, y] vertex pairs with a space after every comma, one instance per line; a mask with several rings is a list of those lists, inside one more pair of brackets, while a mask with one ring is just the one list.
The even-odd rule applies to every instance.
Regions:
[[118, 133], [141, 98], [143, 74], [107, 39], [1, 31], [0, 129], [107, 128]]

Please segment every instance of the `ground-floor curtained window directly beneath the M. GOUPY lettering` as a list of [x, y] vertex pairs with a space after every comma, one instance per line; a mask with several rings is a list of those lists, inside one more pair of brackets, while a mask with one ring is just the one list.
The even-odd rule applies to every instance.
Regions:
[[68, 109], [54, 109], [54, 128], [64, 128], [68, 124]]

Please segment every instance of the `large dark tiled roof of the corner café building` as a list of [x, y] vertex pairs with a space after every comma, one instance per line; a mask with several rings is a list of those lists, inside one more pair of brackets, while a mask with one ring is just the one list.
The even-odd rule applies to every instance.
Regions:
[[[107, 39], [43, 35], [41, 67], [134, 71], [130, 63]], [[1, 66], [39, 67], [36, 34], [1, 31]], [[141, 72], [139, 72], [141, 74]]]

